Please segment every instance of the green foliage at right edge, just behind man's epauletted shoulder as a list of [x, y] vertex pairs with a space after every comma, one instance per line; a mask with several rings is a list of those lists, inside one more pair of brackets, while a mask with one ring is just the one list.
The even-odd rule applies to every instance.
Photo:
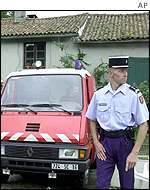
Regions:
[[146, 104], [149, 104], [149, 83], [148, 81], [142, 81], [139, 85], [138, 85], [139, 90], [142, 92], [145, 102]]

